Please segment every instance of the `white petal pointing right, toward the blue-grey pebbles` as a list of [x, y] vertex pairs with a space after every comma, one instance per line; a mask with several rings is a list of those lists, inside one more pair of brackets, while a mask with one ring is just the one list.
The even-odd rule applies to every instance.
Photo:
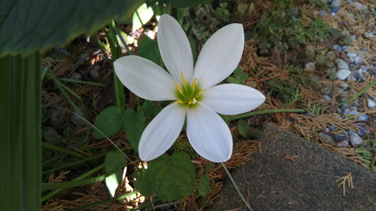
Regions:
[[265, 96], [256, 89], [239, 84], [220, 84], [202, 93], [200, 103], [224, 115], [237, 115], [256, 109]]

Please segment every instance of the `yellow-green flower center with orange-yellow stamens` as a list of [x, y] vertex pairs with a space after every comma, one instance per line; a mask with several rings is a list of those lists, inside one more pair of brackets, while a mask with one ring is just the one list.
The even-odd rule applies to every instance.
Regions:
[[193, 81], [193, 84], [185, 83], [184, 75], [182, 72], [183, 87], [180, 89], [179, 85], [175, 82], [177, 88], [176, 97], [179, 99], [175, 102], [178, 102], [186, 106], [194, 106], [196, 102], [202, 98], [202, 92], [205, 89], [200, 89], [199, 85], [196, 85], [197, 78]]

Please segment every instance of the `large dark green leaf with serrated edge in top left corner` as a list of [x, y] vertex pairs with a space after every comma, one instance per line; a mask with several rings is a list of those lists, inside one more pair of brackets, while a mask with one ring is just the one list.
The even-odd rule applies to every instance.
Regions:
[[0, 2], [0, 55], [65, 44], [135, 11], [144, 0]]

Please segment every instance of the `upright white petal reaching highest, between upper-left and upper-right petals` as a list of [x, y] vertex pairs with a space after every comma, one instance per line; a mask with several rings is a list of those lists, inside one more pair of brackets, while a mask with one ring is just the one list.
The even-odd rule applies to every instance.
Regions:
[[193, 56], [188, 38], [182, 27], [170, 15], [164, 14], [158, 23], [159, 51], [168, 72], [176, 82], [182, 84], [182, 75], [189, 83], [193, 76]]

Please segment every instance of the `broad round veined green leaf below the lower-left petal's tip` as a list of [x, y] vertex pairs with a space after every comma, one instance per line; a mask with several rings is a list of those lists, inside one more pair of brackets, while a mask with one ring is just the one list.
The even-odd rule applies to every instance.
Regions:
[[162, 202], [181, 200], [193, 194], [196, 181], [191, 158], [185, 152], [162, 155], [150, 161], [147, 178]]

